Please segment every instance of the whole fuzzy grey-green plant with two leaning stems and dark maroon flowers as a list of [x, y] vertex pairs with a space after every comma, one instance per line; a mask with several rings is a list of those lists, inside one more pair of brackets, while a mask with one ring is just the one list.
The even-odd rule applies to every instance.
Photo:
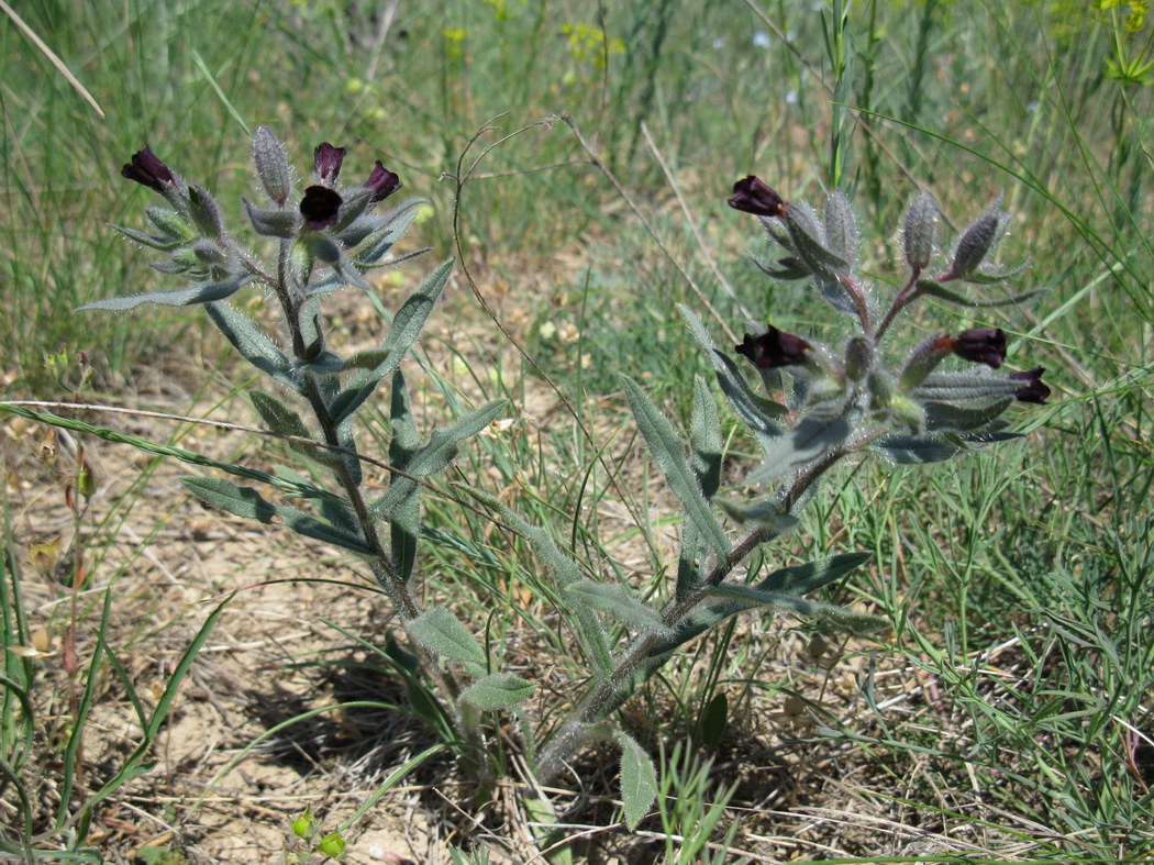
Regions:
[[[370, 292], [366, 273], [395, 263], [385, 256], [421, 204], [413, 198], [376, 213], [377, 205], [399, 188], [399, 179], [377, 161], [364, 183], [343, 186], [344, 156], [344, 149], [328, 142], [319, 145], [312, 182], [299, 190], [284, 146], [268, 129], [257, 129], [253, 159], [265, 201], [243, 204], [253, 231], [271, 241], [269, 263], [262, 263], [235, 239], [208, 190], [186, 182], [150, 150], [140, 151], [125, 166], [125, 176], [162, 195], [168, 206], [147, 209], [150, 232], [119, 231], [163, 253], [166, 260], [156, 266], [189, 285], [84, 308], [203, 306], [237, 352], [272, 383], [272, 390], [250, 391], [253, 405], [269, 430], [306, 460], [309, 475], [215, 464], [249, 483], [202, 476], [183, 479], [185, 486], [213, 506], [282, 525], [343, 548], [364, 563], [395, 606], [407, 638], [407, 650], [392, 647], [389, 656], [410, 670], [414, 684], [417, 676], [433, 683], [444, 707], [442, 735], [458, 747], [462, 766], [482, 787], [501, 770], [490, 759], [501, 751], [495, 739], [501, 725], [487, 717], [509, 713], [518, 721], [516, 738], [539, 783], [554, 783], [587, 743], [605, 740], [620, 747], [624, 822], [636, 827], [658, 795], [658, 774], [646, 750], [614, 716], [679, 649], [736, 614], [758, 608], [856, 633], [887, 623], [882, 616], [805, 597], [840, 580], [869, 552], [829, 555], [762, 574], [765, 544], [797, 525], [797, 513], [819, 481], [839, 464], [871, 454], [891, 462], [928, 464], [1017, 438], [1006, 431], [1007, 408], [1014, 401], [1042, 403], [1049, 394], [1040, 368], [989, 371], [999, 369], [1006, 358], [1002, 330], [935, 333], [913, 351], [901, 348], [893, 336], [904, 310], [922, 298], [991, 307], [1018, 303], [1035, 293], [972, 300], [951, 287], [1002, 284], [1021, 271], [994, 262], [1009, 221], [999, 202], [961, 233], [951, 255], [942, 257], [941, 215], [928, 194], [916, 195], [900, 232], [908, 279], [886, 300], [861, 274], [857, 221], [846, 196], [830, 195], [818, 215], [805, 204], [786, 202], [755, 176], [740, 181], [730, 206], [759, 217], [784, 253], [762, 269], [778, 280], [812, 284], [853, 328], [838, 348], [772, 326], [759, 336], [747, 333], [735, 351], [751, 362], [760, 385], [755, 388], [737, 363], [714, 347], [697, 317], [682, 308], [717, 384], [760, 447], [760, 462], [740, 480], [732, 497], [719, 495], [724, 438], [705, 379], [698, 377], [694, 385], [687, 446], [645, 391], [622, 377], [642, 439], [682, 507], [680, 554], [668, 569], [674, 585], [664, 601], [642, 600], [631, 585], [604, 578], [496, 497], [458, 486], [490, 509], [505, 529], [529, 541], [552, 574], [559, 612], [587, 665], [582, 680], [574, 683], [580, 697], [564, 712], [547, 707], [542, 716], [557, 720], [539, 729], [527, 708], [534, 683], [501, 671], [501, 659], [482, 647], [473, 629], [447, 606], [422, 606], [413, 588], [424, 532], [422, 487], [450, 465], [465, 438], [496, 420], [504, 405], [481, 406], [424, 441], [417, 430], [400, 366], [445, 287], [451, 262], [436, 268], [391, 315], [379, 348], [343, 355], [330, 344], [324, 301], [346, 287]], [[277, 299], [279, 338], [228, 303], [248, 285]], [[951, 358], [966, 366], [943, 371]], [[388, 464], [361, 454], [355, 444], [358, 412], [383, 382], [391, 391]], [[369, 492], [365, 461], [391, 473], [383, 494]], [[307, 504], [270, 501], [252, 481]], [[742, 533], [736, 540], [726, 520]], [[411, 687], [414, 692], [421, 689]], [[565, 700], [571, 697], [567, 693]], [[714, 739], [725, 722], [724, 701], [713, 709], [719, 713], [722, 717], [707, 724]], [[337, 840], [331, 840], [334, 850]]]

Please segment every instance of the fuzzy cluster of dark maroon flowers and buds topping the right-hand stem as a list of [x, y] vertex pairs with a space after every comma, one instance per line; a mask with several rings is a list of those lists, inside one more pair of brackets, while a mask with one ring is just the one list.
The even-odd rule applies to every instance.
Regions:
[[[767, 385], [778, 378], [766, 371], [777, 369], [803, 383], [795, 389], [793, 405], [778, 406], [779, 411], [771, 414], [800, 416], [799, 426], [807, 418], [822, 419], [823, 423], [833, 418], [846, 421], [838, 427], [845, 435], [829, 436], [825, 451], [869, 447], [899, 461], [944, 459], [974, 444], [1013, 437], [1002, 431], [1009, 426], [1001, 416], [1006, 407], [1014, 400], [1043, 404], [1050, 396], [1050, 389], [1042, 383], [1041, 367], [990, 373], [1006, 360], [1006, 334], [999, 328], [964, 330], [953, 336], [935, 333], [896, 369], [884, 363], [890, 326], [919, 298], [990, 307], [1017, 303], [1035, 293], [975, 303], [947, 287], [959, 281], [1004, 283], [1024, 269], [1002, 268], [991, 261], [1010, 219], [1001, 210], [1001, 198], [961, 232], [938, 273], [927, 276], [939, 255], [942, 220], [934, 200], [927, 193], [916, 195], [901, 228], [909, 278], [885, 308], [878, 306], [877, 295], [859, 273], [857, 221], [844, 195], [830, 195], [819, 215], [804, 203], [787, 202], [760, 179], [749, 175], [734, 185], [728, 203], [757, 216], [784, 251], [774, 264], [759, 262], [763, 271], [777, 279], [811, 281], [829, 303], [855, 319], [856, 332], [840, 353], [773, 326], [759, 336], [745, 333], [735, 346], [763, 374]], [[950, 356], [974, 366], [961, 371], [938, 371]], [[855, 432], [850, 441], [850, 430], [865, 431]]]

